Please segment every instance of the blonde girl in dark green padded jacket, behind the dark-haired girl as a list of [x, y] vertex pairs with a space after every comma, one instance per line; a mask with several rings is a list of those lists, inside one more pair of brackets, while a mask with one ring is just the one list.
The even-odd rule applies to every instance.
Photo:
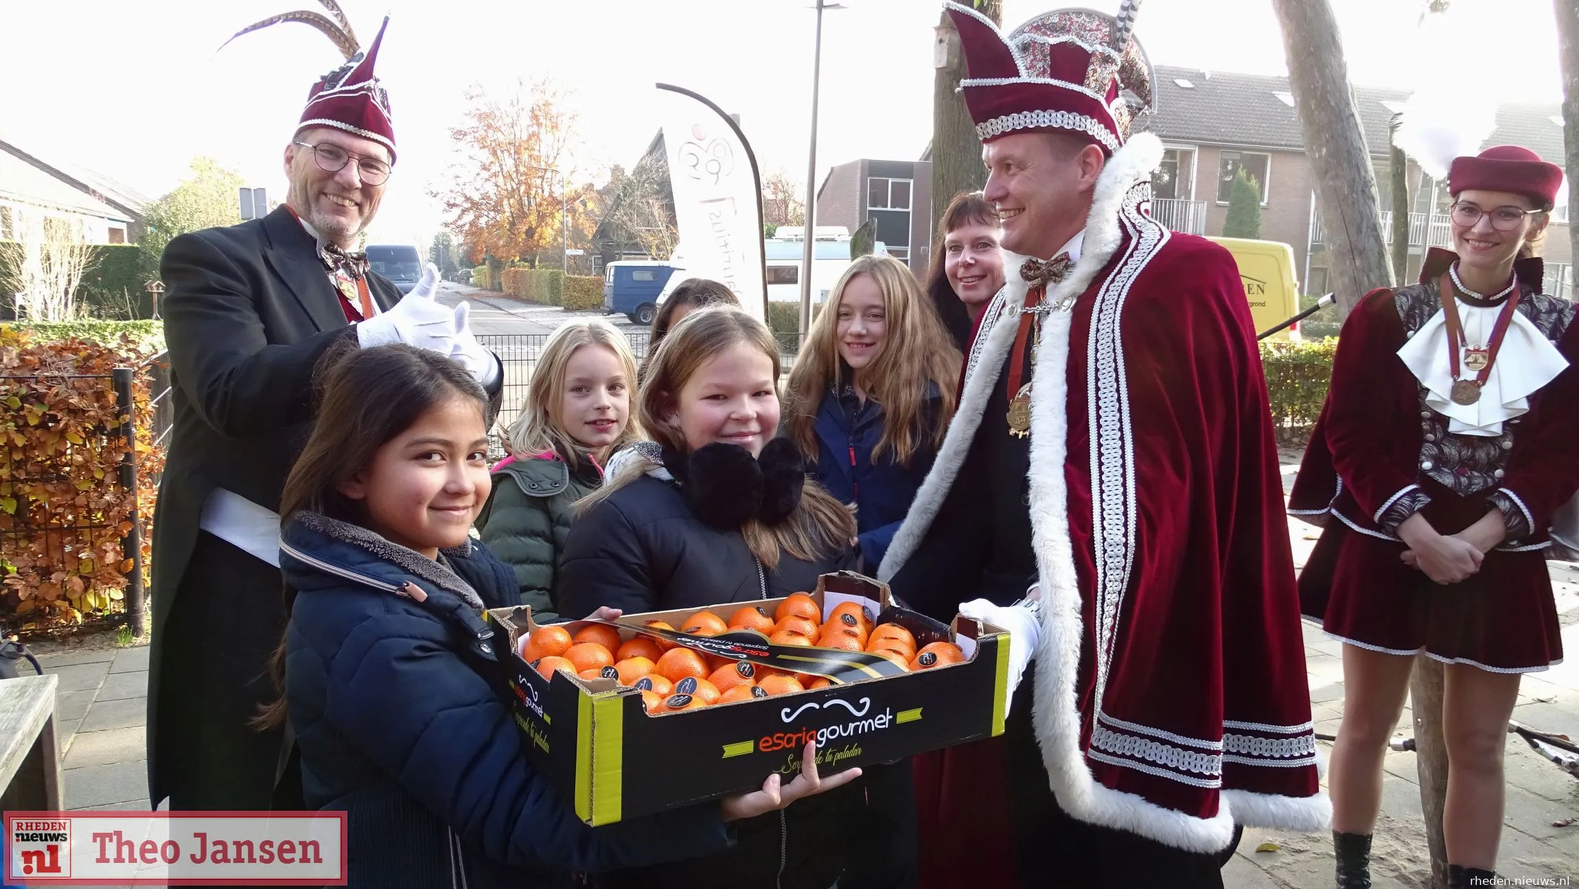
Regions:
[[635, 441], [630, 415], [636, 362], [625, 335], [602, 319], [556, 330], [532, 368], [510, 456], [493, 467], [493, 496], [477, 518], [489, 548], [512, 568], [521, 605], [553, 621], [549, 592], [570, 534], [572, 507], [603, 482], [608, 456]]

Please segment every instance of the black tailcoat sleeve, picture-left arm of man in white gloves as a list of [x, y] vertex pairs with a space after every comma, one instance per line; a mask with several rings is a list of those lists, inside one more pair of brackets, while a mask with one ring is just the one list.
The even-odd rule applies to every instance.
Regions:
[[171, 369], [210, 426], [248, 436], [311, 418], [313, 368], [333, 344], [355, 341], [352, 325], [268, 343], [256, 284], [208, 232], [172, 240], [159, 278]]

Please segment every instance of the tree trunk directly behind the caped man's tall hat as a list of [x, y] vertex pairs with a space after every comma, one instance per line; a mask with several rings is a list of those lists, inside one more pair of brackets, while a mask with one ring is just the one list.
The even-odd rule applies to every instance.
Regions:
[[[1003, 0], [984, 0], [976, 11], [1003, 24]], [[960, 32], [954, 30], [947, 13], [943, 13], [938, 24], [933, 65], [936, 76], [932, 85], [932, 227], [936, 231], [944, 207], [955, 194], [981, 191], [987, 185], [976, 125], [965, 111], [965, 96], [954, 92], [965, 79], [965, 54], [960, 52]]]

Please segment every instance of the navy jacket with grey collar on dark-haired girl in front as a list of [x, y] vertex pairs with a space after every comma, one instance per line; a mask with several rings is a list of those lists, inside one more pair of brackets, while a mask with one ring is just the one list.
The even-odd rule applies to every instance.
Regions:
[[349, 813], [349, 884], [549, 886], [554, 868], [728, 848], [715, 804], [576, 820], [527, 763], [501, 696], [482, 608], [515, 602], [515, 575], [478, 543], [442, 556], [313, 513], [281, 532], [295, 591], [286, 703], [308, 805]]

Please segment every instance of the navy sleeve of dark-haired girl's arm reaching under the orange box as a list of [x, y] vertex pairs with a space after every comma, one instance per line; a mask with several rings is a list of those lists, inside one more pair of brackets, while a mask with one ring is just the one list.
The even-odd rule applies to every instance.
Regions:
[[715, 804], [587, 827], [521, 755], [508, 707], [399, 605], [354, 625], [325, 671], [325, 717], [385, 774], [499, 862], [609, 870], [722, 851]]

